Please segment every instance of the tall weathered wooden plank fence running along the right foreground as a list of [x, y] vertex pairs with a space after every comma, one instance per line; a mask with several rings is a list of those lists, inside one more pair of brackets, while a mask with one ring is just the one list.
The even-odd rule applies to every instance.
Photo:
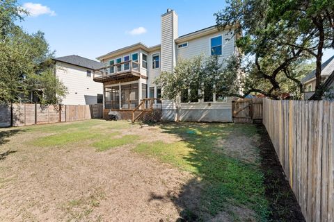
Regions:
[[306, 221], [334, 221], [334, 103], [264, 99], [263, 123]]

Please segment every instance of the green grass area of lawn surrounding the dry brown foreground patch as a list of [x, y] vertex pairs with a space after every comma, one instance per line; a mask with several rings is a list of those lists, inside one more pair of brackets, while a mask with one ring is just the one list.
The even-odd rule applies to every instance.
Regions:
[[[10, 144], [10, 130], [0, 130], [4, 144], [1, 153], [6, 147], [22, 145], [38, 152], [44, 152], [42, 149], [45, 152], [57, 149], [70, 152], [79, 148], [99, 155], [113, 155], [129, 149], [132, 155], [145, 162], [161, 162], [190, 174], [193, 179], [183, 182], [178, 196], [166, 197], [186, 221], [207, 221], [222, 212], [232, 221], [244, 221], [247, 216], [256, 221], [267, 221], [269, 203], [264, 194], [264, 175], [260, 171], [257, 128], [254, 125], [161, 123], [141, 128], [138, 123], [92, 119], [15, 128], [15, 136], [22, 138], [22, 145]], [[8, 139], [4, 139], [7, 135]], [[113, 153], [109, 152], [111, 150]], [[17, 153], [13, 155], [22, 155], [24, 151]], [[92, 166], [99, 162], [98, 158], [93, 161], [96, 163], [91, 163]], [[65, 208], [83, 205], [86, 199], [71, 200]], [[91, 199], [95, 201], [88, 198]], [[90, 214], [93, 208], [84, 208], [84, 211]], [[245, 217], [243, 211], [250, 212], [250, 215]]]

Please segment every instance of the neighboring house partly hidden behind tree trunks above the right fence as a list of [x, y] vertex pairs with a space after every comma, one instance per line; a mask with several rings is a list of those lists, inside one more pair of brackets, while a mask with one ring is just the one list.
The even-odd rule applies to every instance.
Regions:
[[[324, 83], [334, 70], [334, 56], [329, 58], [326, 62], [321, 65], [321, 81]], [[315, 70], [311, 71], [310, 74], [305, 76], [301, 83], [305, 88], [304, 99], [310, 99], [315, 93]]]

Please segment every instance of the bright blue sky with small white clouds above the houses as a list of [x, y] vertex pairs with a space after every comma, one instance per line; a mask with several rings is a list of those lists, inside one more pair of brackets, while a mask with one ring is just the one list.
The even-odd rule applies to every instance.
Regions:
[[[179, 35], [215, 24], [213, 14], [223, 0], [169, 1], [19, 1], [31, 10], [20, 25], [29, 33], [45, 33], [56, 56], [79, 55], [95, 59], [123, 46], [143, 42], [160, 44], [160, 18], [167, 8], [179, 15]], [[334, 55], [326, 51], [323, 60]]]

